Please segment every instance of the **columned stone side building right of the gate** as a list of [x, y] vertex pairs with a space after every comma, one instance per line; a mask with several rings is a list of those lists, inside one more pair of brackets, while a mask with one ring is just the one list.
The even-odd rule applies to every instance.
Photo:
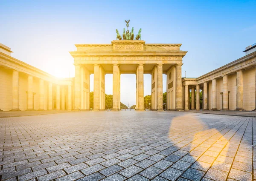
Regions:
[[[198, 78], [182, 78], [183, 109], [254, 110], [256, 43], [244, 52], [244, 57]], [[201, 99], [197, 92], [202, 92]]]

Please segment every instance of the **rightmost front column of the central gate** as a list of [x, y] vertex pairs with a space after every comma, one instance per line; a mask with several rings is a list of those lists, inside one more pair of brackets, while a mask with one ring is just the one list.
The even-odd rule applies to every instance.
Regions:
[[182, 110], [181, 66], [181, 63], [176, 64], [176, 110]]

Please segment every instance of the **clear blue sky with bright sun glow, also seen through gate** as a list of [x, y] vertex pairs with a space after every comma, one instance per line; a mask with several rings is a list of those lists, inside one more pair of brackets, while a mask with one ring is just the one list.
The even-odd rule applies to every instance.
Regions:
[[[142, 28], [146, 43], [182, 43], [180, 49], [188, 51], [182, 76], [186, 71], [186, 77], [198, 77], [244, 56], [245, 47], [256, 43], [255, 12], [256, 0], [1, 0], [0, 43], [19, 60], [69, 77], [74, 75], [69, 54], [74, 44], [111, 43], [115, 29], [121, 31], [124, 20], [131, 19], [130, 26]], [[112, 94], [112, 75], [106, 80], [106, 93]], [[144, 80], [148, 95], [150, 75]], [[135, 75], [122, 75], [121, 83], [121, 101], [135, 103]]]

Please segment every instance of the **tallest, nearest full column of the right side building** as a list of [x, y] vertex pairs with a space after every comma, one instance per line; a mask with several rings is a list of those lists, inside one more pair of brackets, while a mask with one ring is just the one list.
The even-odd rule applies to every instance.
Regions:
[[239, 70], [236, 72], [236, 111], [243, 111], [243, 71]]

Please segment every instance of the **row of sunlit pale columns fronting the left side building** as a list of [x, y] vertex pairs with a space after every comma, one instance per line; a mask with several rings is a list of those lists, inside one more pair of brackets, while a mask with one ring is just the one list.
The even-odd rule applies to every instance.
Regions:
[[[34, 84], [33, 84], [33, 76], [28, 75], [27, 77], [27, 109], [26, 110], [35, 110], [34, 108]], [[45, 110], [45, 96], [48, 95], [47, 98], [47, 110], [53, 109], [53, 84], [52, 82], [48, 82], [48, 94], [46, 95], [44, 90], [45, 81], [43, 79], [39, 79], [39, 109]], [[19, 108], [19, 72], [17, 70], [13, 70], [12, 72], [12, 109], [11, 111], [18, 111]], [[72, 109], [72, 92], [71, 85], [68, 85], [68, 110]], [[65, 89], [62, 87], [60, 98], [60, 85], [56, 85], [56, 109], [65, 109]], [[62, 106], [60, 108], [60, 101]]]

